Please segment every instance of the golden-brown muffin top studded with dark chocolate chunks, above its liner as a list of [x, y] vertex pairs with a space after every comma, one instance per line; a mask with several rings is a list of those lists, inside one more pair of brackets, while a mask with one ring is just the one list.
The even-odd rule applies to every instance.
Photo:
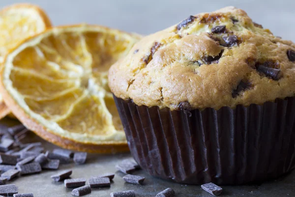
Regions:
[[226, 7], [150, 34], [109, 70], [116, 97], [177, 109], [295, 96], [295, 44]]

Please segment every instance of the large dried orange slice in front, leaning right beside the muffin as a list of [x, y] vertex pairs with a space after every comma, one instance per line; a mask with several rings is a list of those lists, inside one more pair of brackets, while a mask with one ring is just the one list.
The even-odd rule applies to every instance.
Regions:
[[90, 25], [33, 36], [3, 63], [3, 99], [28, 129], [61, 147], [127, 151], [107, 72], [140, 37]]

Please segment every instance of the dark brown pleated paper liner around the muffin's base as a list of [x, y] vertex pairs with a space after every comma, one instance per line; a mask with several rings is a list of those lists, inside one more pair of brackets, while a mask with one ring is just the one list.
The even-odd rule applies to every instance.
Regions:
[[237, 185], [295, 166], [295, 97], [189, 113], [114, 99], [134, 159], [153, 176]]

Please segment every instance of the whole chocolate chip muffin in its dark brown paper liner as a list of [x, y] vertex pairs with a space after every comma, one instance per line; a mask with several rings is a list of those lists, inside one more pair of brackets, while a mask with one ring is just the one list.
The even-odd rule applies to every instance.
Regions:
[[295, 44], [241, 9], [144, 37], [109, 86], [130, 151], [153, 176], [235, 185], [295, 166]]

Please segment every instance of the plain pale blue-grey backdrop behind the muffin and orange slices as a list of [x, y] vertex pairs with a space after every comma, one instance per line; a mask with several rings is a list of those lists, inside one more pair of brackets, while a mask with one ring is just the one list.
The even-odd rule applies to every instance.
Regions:
[[275, 35], [295, 41], [295, 0], [0, 0], [0, 6], [16, 2], [40, 5], [54, 25], [99, 24], [142, 34], [234, 5]]

